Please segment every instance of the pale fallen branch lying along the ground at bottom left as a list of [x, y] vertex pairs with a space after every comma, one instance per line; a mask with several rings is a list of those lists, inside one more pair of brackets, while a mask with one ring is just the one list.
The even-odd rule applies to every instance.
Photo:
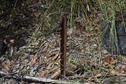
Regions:
[[[73, 84], [72, 82], [67, 82], [62, 80], [52, 80], [47, 78], [21, 76], [20, 74], [8, 74], [3, 71], [0, 71], [0, 77], [12, 78], [16, 80], [29, 81], [29, 82], [39, 82], [39, 83]], [[76, 83], [76, 84], [80, 84], [80, 83]]]

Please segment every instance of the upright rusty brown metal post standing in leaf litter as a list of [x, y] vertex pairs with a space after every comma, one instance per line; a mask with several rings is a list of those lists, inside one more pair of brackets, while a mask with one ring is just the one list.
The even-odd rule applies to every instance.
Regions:
[[65, 77], [66, 76], [66, 46], [67, 46], [67, 16], [66, 15], [62, 18], [60, 35], [61, 35], [61, 41], [60, 41], [61, 76]]

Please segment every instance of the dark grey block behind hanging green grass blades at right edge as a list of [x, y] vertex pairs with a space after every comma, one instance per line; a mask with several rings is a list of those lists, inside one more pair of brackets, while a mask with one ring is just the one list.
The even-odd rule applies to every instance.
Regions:
[[101, 26], [103, 46], [112, 54], [126, 56], [125, 24], [115, 22], [115, 28], [112, 25], [111, 22], [103, 22]]

